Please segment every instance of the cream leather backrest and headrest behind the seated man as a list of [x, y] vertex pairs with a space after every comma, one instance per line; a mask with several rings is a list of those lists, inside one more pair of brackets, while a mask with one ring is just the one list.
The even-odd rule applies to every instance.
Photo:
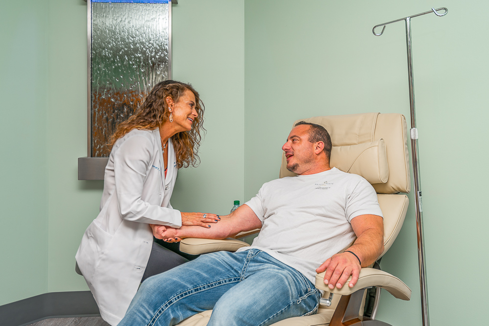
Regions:
[[[361, 113], [301, 119], [323, 126], [331, 135], [333, 149], [330, 166], [359, 174], [378, 194], [384, 215], [384, 252], [399, 234], [406, 216], [411, 190], [407, 125], [402, 114]], [[282, 153], [280, 177], [295, 175], [286, 168]]]

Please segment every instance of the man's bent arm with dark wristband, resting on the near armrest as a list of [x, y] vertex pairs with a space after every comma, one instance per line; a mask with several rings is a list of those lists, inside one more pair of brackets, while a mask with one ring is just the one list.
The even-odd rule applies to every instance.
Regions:
[[[218, 223], [219, 224], [219, 223]], [[366, 267], [375, 262], [384, 251], [384, 221], [377, 215], [360, 215], [351, 221], [356, 240], [353, 245], [346, 249], [355, 253], [358, 259], [349, 252], [333, 255], [325, 261], [317, 273], [326, 271], [324, 283], [333, 289], [335, 286], [341, 288], [352, 275], [349, 283], [353, 287], [358, 281], [361, 267]], [[361, 266], [359, 261], [361, 261]]]

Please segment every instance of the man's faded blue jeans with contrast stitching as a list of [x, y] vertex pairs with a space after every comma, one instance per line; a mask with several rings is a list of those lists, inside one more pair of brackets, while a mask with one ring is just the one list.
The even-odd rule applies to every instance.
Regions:
[[213, 309], [208, 326], [265, 326], [316, 312], [320, 292], [304, 275], [250, 249], [200, 256], [141, 284], [118, 326], [170, 326]]

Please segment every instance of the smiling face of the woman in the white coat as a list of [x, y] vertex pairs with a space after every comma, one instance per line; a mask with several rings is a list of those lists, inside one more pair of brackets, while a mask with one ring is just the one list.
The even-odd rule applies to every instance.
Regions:
[[169, 108], [173, 114], [173, 127], [176, 127], [177, 132], [191, 130], [192, 123], [198, 117], [194, 93], [186, 89], [183, 95], [178, 98], [177, 103], [172, 103], [173, 101], [168, 101], [168, 99], [171, 100], [171, 98], [168, 97], [167, 102], [170, 102]]

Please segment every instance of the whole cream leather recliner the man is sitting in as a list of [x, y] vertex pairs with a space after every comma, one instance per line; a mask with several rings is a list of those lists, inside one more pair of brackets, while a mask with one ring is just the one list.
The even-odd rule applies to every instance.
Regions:
[[[301, 120], [296, 122], [298, 121]], [[406, 195], [399, 194], [409, 193], [411, 188], [404, 116], [394, 113], [364, 113], [313, 117], [304, 121], [322, 125], [331, 134], [331, 167], [360, 174], [377, 191], [378, 202], [384, 215], [383, 255], [399, 234], [409, 203]], [[295, 175], [287, 171], [286, 165], [285, 155], [282, 154], [280, 177]], [[184, 239], [181, 241], [180, 250], [189, 254], [202, 254], [219, 250], [235, 251], [247, 245], [236, 239]], [[406, 284], [395, 276], [375, 268], [362, 268], [358, 282], [353, 288], [345, 285], [341, 289], [330, 290], [323, 283], [323, 278], [324, 273], [316, 275], [316, 287], [325, 291], [317, 314], [289, 318], [273, 325], [388, 325], [375, 320], [375, 312], [371, 318], [362, 316], [365, 289], [377, 286], [376, 304], [380, 288], [384, 288], [398, 299], [409, 300], [411, 297], [411, 290]], [[178, 325], [205, 326], [211, 313], [212, 310], [204, 311]]]

